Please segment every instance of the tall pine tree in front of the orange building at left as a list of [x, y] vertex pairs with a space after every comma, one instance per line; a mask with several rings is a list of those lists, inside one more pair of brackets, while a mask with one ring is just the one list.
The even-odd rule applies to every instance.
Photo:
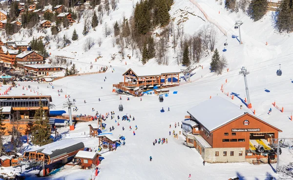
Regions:
[[49, 118], [47, 114], [45, 114], [42, 102], [39, 102], [40, 109], [36, 110], [34, 119], [36, 120], [33, 123], [31, 128], [32, 139], [31, 142], [34, 145], [43, 146], [45, 144], [49, 144], [53, 139], [50, 138], [51, 131], [49, 125]]

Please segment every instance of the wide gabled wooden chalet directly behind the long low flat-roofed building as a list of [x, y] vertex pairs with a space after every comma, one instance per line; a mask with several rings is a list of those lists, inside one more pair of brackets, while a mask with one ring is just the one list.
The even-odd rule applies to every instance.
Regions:
[[26, 50], [16, 56], [16, 63], [18, 65], [44, 64], [45, 59], [44, 59], [44, 56], [37, 53], [36, 51]]

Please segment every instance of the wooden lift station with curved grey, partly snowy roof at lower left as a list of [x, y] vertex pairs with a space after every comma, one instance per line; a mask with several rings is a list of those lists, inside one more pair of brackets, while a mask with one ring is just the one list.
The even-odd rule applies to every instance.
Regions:
[[42, 161], [45, 165], [55, 162], [65, 164], [74, 158], [79, 151], [83, 150], [83, 142], [74, 139], [63, 139], [26, 151], [23, 158], [30, 161]]

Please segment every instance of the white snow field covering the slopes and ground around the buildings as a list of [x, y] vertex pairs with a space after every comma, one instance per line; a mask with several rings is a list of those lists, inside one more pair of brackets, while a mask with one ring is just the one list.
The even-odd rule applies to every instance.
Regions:
[[[134, 0], [135, 1], [135, 0]], [[196, 33], [201, 26], [209, 24], [203, 14], [198, 8], [189, 0], [174, 0], [170, 15], [176, 17], [175, 22], [180, 19], [182, 9], [191, 12], [203, 18], [206, 22], [198, 17], [188, 14], [188, 20], [184, 22], [185, 32], [188, 34]], [[181, 81], [179, 87], [170, 88], [168, 97], [164, 97], [164, 102], [160, 103], [157, 96], [144, 95], [142, 101], [138, 97], [122, 95], [122, 101], [119, 100], [120, 94], [112, 92], [112, 84], [117, 84], [123, 81], [122, 74], [131, 67], [140, 66], [141, 63], [137, 58], [132, 57], [131, 60], [120, 61], [120, 55], [117, 55], [115, 61], [110, 61], [110, 55], [118, 51], [117, 47], [112, 47], [111, 38], [105, 38], [101, 33], [103, 26], [99, 25], [97, 31], [90, 32], [87, 36], [97, 39], [100, 35], [103, 38], [101, 47], [95, 45], [91, 50], [84, 53], [82, 50], [83, 42], [86, 38], [82, 37], [82, 26], [74, 24], [69, 30], [61, 32], [68, 33], [71, 36], [74, 28], [80, 34], [80, 40], [74, 42], [72, 45], [63, 49], [56, 49], [53, 42], [49, 52], [52, 56], [63, 55], [66, 57], [75, 58], [72, 60], [76, 63], [78, 68], [84, 68], [82, 71], [86, 72], [85, 67], [89, 67], [92, 62], [97, 67], [107, 66], [108, 70], [101, 74], [65, 77], [63, 79], [53, 82], [54, 89], [48, 84], [38, 84], [35, 82], [20, 82], [20, 87], [14, 88], [9, 94], [33, 94], [29, 90], [22, 90], [22, 86], [31, 86], [32, 90], [39, 91], [43, 95], [49, 94], [52, 96], [53, 104], [56, 110], [63, 109], [63, 103], [66, 101], [65, 94], [69, 94], [70, 98], [76, 99], [77, 112], [73, 114], [90, 114], [94, 115], [92, 108], [99, 113], [115, 111], [115, 118], [111, 120], [108, 118], [105, 123], [108, 129], [111, 126], [115, 127], [113, 137], [118, 138], [119, 135], [126, 137], [126, 145], [118, 147], [114, 152], [105, 152], [102, 156], [105, 158], [100, 165], [100, 172], [96, 180], [187, 180], [188, 175], [191, 174], [192, 180], [228, 180], [232, 176], [238, 176], [241, 180], [265, 180], [270, 176], [277, 179], [278, 175], [274, 173], [276, 164], [261, 164], [252, 165], [246, 162], [243, 163], [206, 163], [203, 166], [203, 159], [194, 148], [185, 146], [184, 136], [179, 135], [178, 139], [169, 136], [169, 131], [175, 130], [176, 133], [181, 131], [179, 127], [174, 128], [175, 122], [181, 122], [187, 110], [191, 107], [208, 100], [209, 97], [222, 96], [234, 104], [240, 106], [243, 103], [237, 97], [234, 100], [227, 96], [227, 93], [239, 94], [240, 98], [245, 98], [244, 78], [239, 75], [240, 68], [245, 66], [250, 74], [248, 78], [248, 86], [251, 98], [252, 109], [255, 109], [256, 115], [268, 121], [270, 124], [280, 128], [283, 132], [279, 134], [282, 138], [293, 137], [293, 121], [290, 115], [293, 112], [293, 61], [292, 34], [278, 34], [275, 32], [272, 23], [272, 12], [258, 22], [252, 22], [243, 12], [230, 13], [224, 10], [224, 4], [219, 5], [214, 0], [197, 0], [201, 8], [213, 20], [213, 23], [220, 25], [227, 31], [227, 37], [218, 31], [218, 43], [216, 47], [220, 54], [224, 54], [228, 60], [229, 72], [226, 70], [222, 75], [216, 75], [209, 72], [210, 55], [203, 59], [199, 65], [203, 69], [195, 70], [196, 74], [191, 77], [191, 83], [184, 83]], [[135, 4], [135, 2], [134, 2]], [[104, 22], [111, 25], [116, 20], [119, 21], [123, 14], [129, 18], [132, 12], [132, 1], [120, 0], [118, 9], [111, 13], [111, 16], [105, 16]], [[220, 14], [219, 14], [220, 10]], [[185, 13], [184, 13], [185, 14]], [[111, 20], [110, 20], [111, 19]], [[232, 35], [238, 36], [238, 30], [234, 30], [234, 23], [241, 20], [242, 45]], [[226, 52], [223, 52], [224, 43], [229, 44]], [[266, 45], [268, 42], [268, 45]], [[103, 58], [98, 62], [94, 62], [97, 57], [97, 52], [101, 51]], [[72, 53], [76, 52], [76, 53]], [[130, 50], [127, 51], [129, 54]], [[126, 53], [127, 54], [127, 53]], [[175, 54], [173, 50], [169, 50], [169, 65], [175, 66]], [[110, 63], [109, 63], [110, 62]], [[276, 70], [283, 71], [282, 76], [276, 75]], [[110, 68], [112, 65], [112, 68]], [[158, 66], [155, 60], [150, 60], [145, 67], [152, 70], [152, 67]], [[196, 66], [196, 65], [195, 65]], [[112, 70], [114, 71], [112, 72]], [[104, 82], [106, 76], [106, 80]], [[225, 83], [227, 79], [227, 83]], [[224, 92], [220, 88], [223, 85]], [[49, 88], [47, 88], [47, 86]], [[38, 90], [38, 87], [40, 88]], [[103, 87], [103, 89], [101, 89]], [[63, 93], [58, 96], [57, 90], [63, 89]], [[265, 90], [270, 90], [266, 92]], [[178, 94], [173, 94], [173, 91], [178, 91]], [[130, 100], [127, 101], [126, 97]], [[98, 99], [101, 99], [99, 102]], [[84, 103], [84, 100], [86, 103]], [[280, 112], [272, 106], [273, 102], [281, 108], [284, 107], [284, 112]], [[124, 111], [118, 111], [118, 105], [122, 103]], [[221, 106], [221, 105], [218, 105]], [[164, 107], [166, 110], [170, 108], [169, 112], [161, 113], [160, 110]], [[268, 115], [269, 109], [272, 108], [271, 115]], [[67, 110], [64, 109], [66, 112]], [[120, 126], [117, 126], [115, 119], [117, 115], [122, 116], [131, 114], [135, 117], [135, 121], [118, 121]], [[209, 113], [209, 109], [206, 110]], [[225, 112], [229, 113], [229, 112]], [[58, 130], [60, 133], [68, 132], [72, 134], [69, 137], [81, 140], [86, 147], [97, 148], [98, 138], [89, 138], [88, 124], [97, 124], [97, 121], [78, 123], [76, 129], [69, 132], [69, 127]], [[169, 129], [169, 125], [172, 128]], [[181, 123], [180, 123], [181, 124]], [[133, 135], [135, 125], [138, 129]], [[129, 131], [129, 126], [132, 130]], [[126, 130], [122, 131], [122, 127]], [[167, 144], [152, 145], [154, 139], [168, 138]], [[31, 148], [31, 147], [29, 147]], [[283, 153], [280, 156], [280, 164], [287, 164], [293, 161], [292, 150], [282, 149]], [[149, 161], [149, 156], [153, 160]], [[19, 169], [15, 170], [18, 171]], [[11, 168], [4, 168], [1, 172], [13, 171]], [[93, 178], [94, 172], [92, 170], [78, 170], [72, 167], [64, 167], [58, 173], [44, 178], [35, 178], [31, 172], [26, 173], [30, 179], [39, 180], [88, 180]]]

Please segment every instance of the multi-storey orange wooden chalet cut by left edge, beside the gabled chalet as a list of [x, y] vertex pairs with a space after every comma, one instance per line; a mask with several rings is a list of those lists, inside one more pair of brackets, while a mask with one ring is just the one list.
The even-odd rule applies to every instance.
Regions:
[[0, 46], [0, 60], [5, 67], [14, 67], [17, 54], [18, 50], [10, 49], [5, 45]]

